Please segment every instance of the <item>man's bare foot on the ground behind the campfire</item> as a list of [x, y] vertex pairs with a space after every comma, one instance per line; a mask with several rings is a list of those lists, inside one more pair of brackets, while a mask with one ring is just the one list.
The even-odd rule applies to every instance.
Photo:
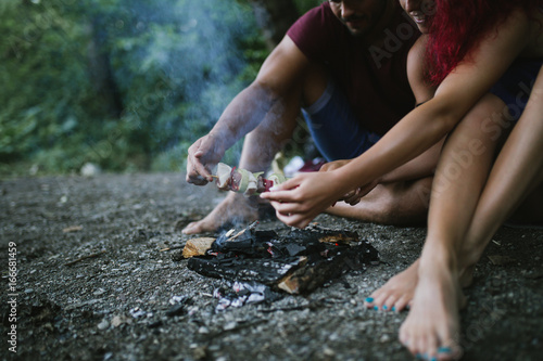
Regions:
[[185, 234], [213, 232], [228, 222], [249, 222], [258, 219], [257, 202], [243, 194], [229, 193], [204, 219], [189, 223]]

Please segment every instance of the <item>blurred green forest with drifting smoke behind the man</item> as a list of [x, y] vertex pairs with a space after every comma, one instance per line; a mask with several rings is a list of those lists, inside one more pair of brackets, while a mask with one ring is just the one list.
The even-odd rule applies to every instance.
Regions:
[[0, 176], [184, 169], [190, 144], [320, 2], [2, 0]]

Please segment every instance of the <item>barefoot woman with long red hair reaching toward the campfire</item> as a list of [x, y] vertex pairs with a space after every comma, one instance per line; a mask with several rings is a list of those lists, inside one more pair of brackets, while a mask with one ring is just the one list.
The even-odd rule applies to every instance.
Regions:
[[[262, 197], [272, 201], [280, 220], [305, 227], [338, 199], [355, 203], [388, 172], [446, 137], [421, 257], [366, 302], [395, 311], [411, 305], [401, 341], [428, 360], [450, 360], [460, 356], [462, 286], [470, 283], [492, 235], [516, 209], [543, 215], [543, 4], [400, 2], [427, 34], [409, 55], [413, 90], [417, 95], [433, 85], [434, 93], [359, 157], [298, 176]], [[421, 79], [414, 79], [417, 74]]]

